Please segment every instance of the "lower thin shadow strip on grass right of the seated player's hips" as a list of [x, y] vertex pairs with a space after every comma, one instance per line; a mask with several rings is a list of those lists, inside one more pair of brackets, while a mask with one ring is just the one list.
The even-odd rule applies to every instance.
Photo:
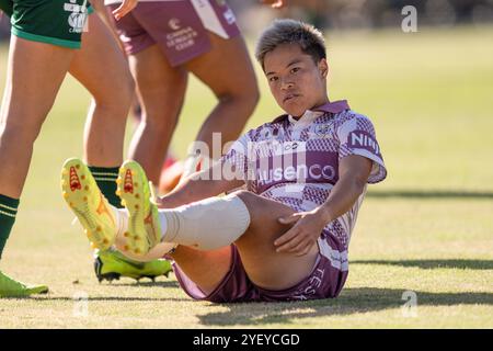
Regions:
[[467, 270], [493, 270], [492, 260], [460, 260], [460, 259], [445, 259], [445, 260], [356, 260], [351, 261], [349, 264], [381, 264], [381, 265], [400, 265], [414, 267], [424, 270], [433, 269], [467, 269]]

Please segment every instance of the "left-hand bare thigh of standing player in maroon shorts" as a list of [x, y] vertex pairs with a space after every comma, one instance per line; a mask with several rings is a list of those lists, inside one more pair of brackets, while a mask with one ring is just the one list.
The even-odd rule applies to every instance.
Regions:
[[158, 45], [129, 56], [139, 101], [147, 118], [177, 117], [187, 86], [187, 72], [171, 67]]

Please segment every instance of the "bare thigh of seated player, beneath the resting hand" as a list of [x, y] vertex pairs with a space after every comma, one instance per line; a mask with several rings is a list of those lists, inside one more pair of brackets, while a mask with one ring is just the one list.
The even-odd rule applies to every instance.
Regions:
[[317, 245], [300, 257], [278, 253], [274, 246], [274, 241], [291, 227], [279, 224], [278, 218], [294, 211], [249, 192], [242, 191], [239, 196], [249, 208], [251, 224], [236, 245], [250, 280], [264, 288], [285, 290], [309, 276], [318, 257]]

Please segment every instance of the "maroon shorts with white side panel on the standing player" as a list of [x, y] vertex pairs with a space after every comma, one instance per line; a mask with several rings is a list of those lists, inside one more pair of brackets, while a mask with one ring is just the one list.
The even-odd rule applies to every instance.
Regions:
[[127, 55], [157, 44], [173, 67], [209, 52], [209, 32], [240, 35], [231, 9], [217, 0], [142, 1], [115, 24]]

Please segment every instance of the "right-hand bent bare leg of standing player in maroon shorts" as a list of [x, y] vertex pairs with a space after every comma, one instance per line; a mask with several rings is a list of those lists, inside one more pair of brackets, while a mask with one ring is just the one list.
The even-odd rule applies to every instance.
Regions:
[[256, 106], [260, 93], [243, 38], [223, 39], [211, 33], [209, 37], [211, 50], [192, 59], [185, 67], [218, 99], [196, 137], [210, 147], [213, 133], [221, 133], [222, 145], [238, 138]]

